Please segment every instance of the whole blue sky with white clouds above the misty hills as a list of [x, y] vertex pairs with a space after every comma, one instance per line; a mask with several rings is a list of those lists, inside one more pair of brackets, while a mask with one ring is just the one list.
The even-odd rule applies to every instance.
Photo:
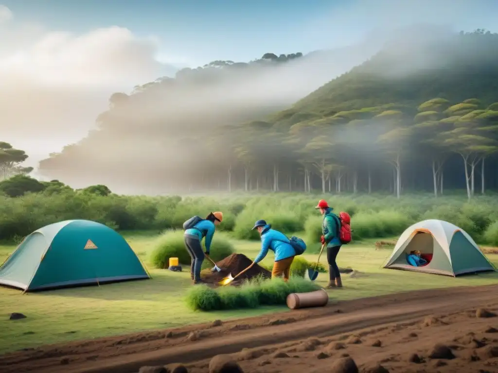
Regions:
[[84, 137], [111, 93], [171, 65], [306, 53], [421, 22], [496, 31], [497, 14], [497, 0], [0, 0], [0, 140], [36, 166]]

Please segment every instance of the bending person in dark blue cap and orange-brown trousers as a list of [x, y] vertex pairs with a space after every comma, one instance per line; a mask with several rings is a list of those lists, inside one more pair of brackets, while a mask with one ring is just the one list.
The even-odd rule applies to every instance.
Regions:
[[283, 233], [271, 229], [271, 225], [264, 220], [256, 221], [252, 229], [257, 229], [261, 235], [261, 251], [250, 267], [261, 262], [268, 254], [268, 250], [271, 250], [275, 253], [271, 278], [283, 276], [284, 281], [289, 280], [290, 266], [296, 255], [289, 239]]

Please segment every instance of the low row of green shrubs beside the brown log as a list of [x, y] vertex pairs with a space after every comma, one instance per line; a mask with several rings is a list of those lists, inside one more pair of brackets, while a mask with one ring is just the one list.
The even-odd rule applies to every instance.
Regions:
[[299, 277], [284, 282], [282, 279], [247, 281], [241, 287], [226, 286], [213, 289], [194, 286], [186, 295], [187, 306], [193, 310], [211, 311], [221, 309], [254, 308], [262, 305], [286, 304], [287, 295], [294, 292], [309, 292], [320, 289], [310, 280]]

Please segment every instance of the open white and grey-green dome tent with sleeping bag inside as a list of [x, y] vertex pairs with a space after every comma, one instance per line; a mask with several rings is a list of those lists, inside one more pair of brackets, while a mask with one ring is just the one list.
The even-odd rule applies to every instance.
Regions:
[[[420, 251], [426, 261], [415, 266], [410, 253]], [[496, 271], [467, 232], [443, 220], [424, 220], [407, 228], [382, 266], [395, 270], [459, 276]]]

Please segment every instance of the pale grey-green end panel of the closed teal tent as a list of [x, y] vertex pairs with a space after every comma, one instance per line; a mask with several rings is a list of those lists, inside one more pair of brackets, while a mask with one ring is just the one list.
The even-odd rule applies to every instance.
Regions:
[[48, 243], [40, 232], [33, 232], [22, 241], [0, 268], [0, 284], [25, 290], [40, 263]]

